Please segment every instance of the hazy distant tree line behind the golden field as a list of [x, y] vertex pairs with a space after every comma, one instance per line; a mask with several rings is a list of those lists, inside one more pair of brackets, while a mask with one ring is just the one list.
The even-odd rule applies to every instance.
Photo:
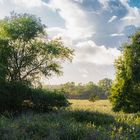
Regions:
[[87, 84], [67, 82], [60, 85], [47, 85], [44, 86], [44, 88], [63, 91], [65, 96], [69, 99], [90, 99], [93, 97], [107, 99], [110, 95], [111, 85], [112, 80], [104, 78], [97, 84], [93, 82], [88, 82]]

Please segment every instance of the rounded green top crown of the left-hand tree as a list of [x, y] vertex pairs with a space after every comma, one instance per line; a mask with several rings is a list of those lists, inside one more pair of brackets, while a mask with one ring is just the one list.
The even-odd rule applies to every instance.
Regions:
[[1, 20], [1, 37], [12, 40], [21, 39], [29, 41], [44, 33], [45, 25], [34, 15], [11, 13], [11, 17]]

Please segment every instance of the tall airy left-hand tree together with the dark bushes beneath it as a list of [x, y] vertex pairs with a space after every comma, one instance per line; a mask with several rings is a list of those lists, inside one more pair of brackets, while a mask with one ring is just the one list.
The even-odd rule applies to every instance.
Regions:
[[61, 74], [61, 62], [72, 56], [60, 38], [47, 39], [45, 26], [33, 15], [12, 13], [0, 20], [0, 112], [67, 106], [62, 94], [33, 86], [42, 76]]

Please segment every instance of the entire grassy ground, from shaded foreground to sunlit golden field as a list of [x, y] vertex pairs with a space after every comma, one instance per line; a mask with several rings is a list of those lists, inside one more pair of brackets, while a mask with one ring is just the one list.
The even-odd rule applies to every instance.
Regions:
[[108, 100], [70, 102], [51, 113], [1, 115], [0, 140], [140, 140], [140, 113], [114, 113]]

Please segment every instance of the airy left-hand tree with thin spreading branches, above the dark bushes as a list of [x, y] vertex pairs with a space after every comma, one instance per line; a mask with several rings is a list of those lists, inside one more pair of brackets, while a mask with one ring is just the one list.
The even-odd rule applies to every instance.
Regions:
[[49, 40], [45, 26], [30, 14], [0, 20], [0, 81], [32, 83], [41, 76], [61, 74], [61, 63], [73, 50], [61, 39]]

